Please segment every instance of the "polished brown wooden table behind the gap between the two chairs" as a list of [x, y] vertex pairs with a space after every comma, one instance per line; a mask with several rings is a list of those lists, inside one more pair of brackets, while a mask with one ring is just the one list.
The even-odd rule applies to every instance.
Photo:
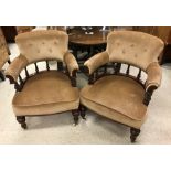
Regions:
[[106, 50], [109, 31], [103, 31], [99, 26], [93, 26], [89, 30], [77, 26], [68, 29], [67, 33], [70, 49], [73, 51], [81, 67], [87, 58]]

